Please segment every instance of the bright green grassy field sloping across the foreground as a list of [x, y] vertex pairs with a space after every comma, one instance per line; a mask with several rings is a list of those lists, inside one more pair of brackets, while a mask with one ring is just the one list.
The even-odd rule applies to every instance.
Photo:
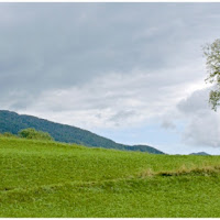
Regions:
[[220, 156], [0, 138], [0, 217], [220, 217]]

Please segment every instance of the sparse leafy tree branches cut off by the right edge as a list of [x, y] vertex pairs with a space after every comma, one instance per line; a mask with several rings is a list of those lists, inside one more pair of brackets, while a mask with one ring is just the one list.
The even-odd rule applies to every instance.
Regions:
[[204, 54], [207, 58], [206, 65], [209, 74], [206, 81], [213, 84], [213, 89], [209, 94], [209, 103], [217, 111], [217, 107], [220, 106], [220, 38], [206, 44]]

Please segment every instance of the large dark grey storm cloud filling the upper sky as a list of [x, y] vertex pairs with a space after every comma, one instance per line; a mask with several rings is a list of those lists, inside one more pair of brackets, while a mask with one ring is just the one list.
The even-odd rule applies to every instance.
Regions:
[[108, 73], [187, 63], [219, 34], [219, 6], [0, 3], [1, 97], [20, 108]]

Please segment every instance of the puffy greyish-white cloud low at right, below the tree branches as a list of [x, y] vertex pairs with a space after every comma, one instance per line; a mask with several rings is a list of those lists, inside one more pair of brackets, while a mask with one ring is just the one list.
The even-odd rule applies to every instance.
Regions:
[[208, 105], [210, 88], [197, 90], [182, 100], [178, 109], [187, 121], [183, 141], [196, 146], [220, 147], [220, 112]]

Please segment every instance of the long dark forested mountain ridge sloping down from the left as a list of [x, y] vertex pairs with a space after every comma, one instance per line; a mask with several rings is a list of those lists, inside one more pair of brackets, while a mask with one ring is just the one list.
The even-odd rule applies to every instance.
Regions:
[[113, 142], [110, 139], [99, 136], [89, 131], [70, 127], [66, 124], [55, 123], [45, 119], [32, 116], [18, 114], [12, 111], [0, 110], [0, 133], [11, 132], [18, 134], [22, 129], [34, 128], [44, 132], [48, 132], [55, 141], [66, 143], [77, 143], [86, 146], [117, 148], [124, 151], [141, 151], [152, 154], [164, 154], [163, 152], [147, 145], [124, 145]]

